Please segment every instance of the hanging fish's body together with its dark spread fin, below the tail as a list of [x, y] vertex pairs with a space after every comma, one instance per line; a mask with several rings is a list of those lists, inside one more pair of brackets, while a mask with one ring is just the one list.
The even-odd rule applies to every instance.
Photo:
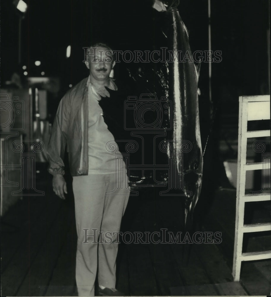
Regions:
[[[172, 59], [172, 57], [177, 57], [179, 52], [188, 53], [192, 57], [188, 32], [177, 8], [171, 5], [166, 11], [165, 9], [159, 12], [155, 10], [154, 19], [155, 30], [148, 33], [155, 34], [153, 37], [155, 44], [152, 44], [152, 49], [166, 48], [165, 59], [149, 63], [121, 63], [127, 72], [122, 77], [125, 83], [117, 83], [118, 92], [121, 92], [123, 85], [127, 87], [127, 90], [118, 95], [116, 99], [114, 99], [114, 94], [111, 94], [110, 99], [102, 98], [99, 104], [103, 108], [105, 123], [118, 143], [119, 151], [122, 154], [127, 153], [125, 141], [118, 142], [118, 140], [127, 140], [127, 142], [134, 140], [138, 143], [138, 150], [130, 154], [129, 158], [133, 159], [131, 164], [137, 164], [139, 168], [142, 165], [142, 170], [139, 171], [143, 175], [140, 175], [141, 173], [138, 175], [137, 170], [129, 176], [130, 181], [134, 181], [132, 188], [142, 190], [144, 187], [157, 187], [164, 183], [169, 192], [172, 189], [174, 193], [169, 195], [182, 199], [186, 223], [187, 218], [193, 216], [202, 181], [203, 157], [198, 111], [198, 69], [193, 61]], [[151, 50], [147, 46], [149, 45], [146, 45], [146, 49]], [[143, 94], [147, 96], [144, 95], [144, 97]], [[127, 99], [129, 96], [136, 98], [128, 102], [129, 106], [133, 103], [132, 109], [127, 109], [128, 105], [125, 105], [130, 100]], [[163, 108], [159, 107], [162, 105]], [[166, 109], [165, 106], [167, 106]], [[155, 110], [154, 107], [159, 107], [161, 110], [158, 119], [155, 112], [151, 114], [152, 110]], [[142, 117], [137, 116], [139, 111], [144, 111], [141, 114]], [[124, 117], [125, 123], [123, 123]], [[155, 119], [159, 124], [152, 127], [151, 123], [156, 123]], [[144, 122], [144, 127], [136, 126], [138, 120]], [[168, 143], [171, 149], [161, 150], [159, 147], [161, 143]], [[151, 162], [154, 155], [156, 160]], [[175, 158], [175, 161], [172, 161], [172, 158]], [[144, 163], [144, 160], [147, 162]], [[171, 163], [174, 168], [165, 174], [166, 170], [156, 169], [156, 161], [162, 164], [162, 167]], [[133, 172], [131, 164], [127, 168], [130, 173]], [[155, 170], [144, 170], [146, 164], [148, 166], [153, 164]], [[174, 174], [177, 172], [177, 174], [173, 178], [170, 172]], [[172, 186], [172, 179], [175, 178], [178, 181], [178, 187]]]

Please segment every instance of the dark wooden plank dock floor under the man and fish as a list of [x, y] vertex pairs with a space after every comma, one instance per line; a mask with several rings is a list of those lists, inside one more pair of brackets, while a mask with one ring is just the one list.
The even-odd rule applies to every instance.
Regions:
[[[1, 218], [1, 295], [76, 296], [73, 198], [57, 198], [48, 177], [38, 187], [46, 196], [24, 197]], [[163, 229], [167, 241], [168, 232], [183, 230], [180, 209], [179, 199], [147, 190], [130, 198], [122, 232]], [[128, 296], [269, 295], [270, 260], [243, 263], [240, 282], [233, 282], [234, 217], [234, 190], [219, 189], [195, 231], [222, 232], [220, 244], [122, 242], [117, 288]], [[249, 238], [248, 247], [268, 248], [267, 236]]]

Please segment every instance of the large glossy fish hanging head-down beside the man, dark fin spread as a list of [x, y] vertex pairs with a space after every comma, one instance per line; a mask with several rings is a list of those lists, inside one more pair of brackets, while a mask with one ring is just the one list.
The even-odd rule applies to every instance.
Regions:
[[[156, 9], [154, 10], [156, 29], [151, 33], [155, 35], [153, 37], [155, 44], [152, 45], [152, 50], [166, 49], [163, 59], [155, 63], [139, 62], [128, 65], [122, 63], [122, 65], [125, 64], [128, 71], [127, 86], [129, 85], [128, 89], [130, 89], [127, 93], [128, 96], [133, 95], [139, 98], [140, 94], [149, 94], [150, 101], [146, 101], [146, 103], [150, 106], [150, 112], [152, 111], [150, 102], [152, 102], [153, 107], [162, 106], [163, 102], [159, 100], [163, 97], [165, 102], [168, 103], [167, 112], [162, 107], [163, 116], [159, 122], [159, 129], [156, 129], [155, 126], [152, 134], [149, 133], [148, 137], [159, 139], [159, 133], [161, 131], [166, 132], [166, 135], [161, 139], [165, 144], [168, 144], [168, 149], [161, 152], [158, 143], [155, 148], [156, 158], [159, 161], [162, 160], [161, 163], [169, 163], [172, 156], [182, 156], [179, 159], [177, 157], [177, 162], [173, 162], [174, 168], [171, 171], [175, 173], [174, 178], [179, 180], [180, 187], [174, 189], [174, 195], [179, 195], [180, 199], [184, 201], [186, 222], [189, 216], [192, 218], [200, 195], [203, 158], [198, 113], [198, 72], [191, 60], [192, 53], [188, 41], [188, 32], [176, 6], [176, 1], [175, 4], [173, 2], [170, 6], [166, 6], [162, 1], [158, 0], [153, 5]], [[179, 54], [182, 54], [183, 57], [186, 55], [186, 59], [183, 60]], [[180, 59], [183, 61], [180, 61]], [[118, 87], [121, 89], [121, 85], [118, 85]], [[157, 98], [157, 102], [153, 99], [152, 94]], [[134, 115], [130, 113], [131, 116], [127, 118], [127, 121], [131, 121], [131, 126], [133, 126], [132, 122], [135, 121], [136, 110], [142, 108], [144, 102], [137, 101], [136, 104], [137, 107], [134, 105]], [[123, 103], [119, 101], [119, 97], [115, 100], [114, 94], [112, 94], [110, 100], [108, 98], [102, 99], [100, 105], [103, 108], [105, 122], [115, 140], [132, 139], [130, 131], [123, 129], [123, 111], [127, 112], [127, 110], [123, 110]], [[155, 122], [155, 117], [157, 117], [157, 114], [154, 113], [153, 117], [149, 116], [148, 119], [146, 112], [141, 120], [146, 121], [146, 127], [151, 127], [148, 124]], [[138, 140], [138, 138], [134, 139]], [[122, 153], [125, 152], [123, 142], [116, 142], [119, 145], [119, 150]], [[141, 162], [140, 149], [138, 152], [140, 153], [138, 162]], [[145, 148], [145, 158], [153, 158], [153, 152], [148, 148]], [[160, 182], [166, 181], [167, 187], [171, 187], [171, 173], [165, 177], [163, 170], [156, 170], [154, 178], [152, 173], [148, 175], [148, 171], [142, 172], [144, 176], [138, 176], [138, 182], [134, 183], [137, 188], [148, 184], [155, 186], [153, 184], [154, 179], [158, 185]]]

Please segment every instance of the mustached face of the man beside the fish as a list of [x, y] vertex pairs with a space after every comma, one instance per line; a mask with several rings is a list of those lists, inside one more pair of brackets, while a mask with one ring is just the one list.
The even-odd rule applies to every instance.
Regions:
[[95, 80], [106, 81], [115, 65], [108, 48], [91, 48], [88, 61], [85, 62], [89, 69], [90, 76]]

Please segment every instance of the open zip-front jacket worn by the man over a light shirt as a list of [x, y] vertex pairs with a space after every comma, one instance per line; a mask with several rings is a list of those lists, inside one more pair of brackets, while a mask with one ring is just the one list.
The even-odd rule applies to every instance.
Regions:
[[82, 139], [88, 139], [88, 88], [86, 82], [87, 78], [81, 80], [64, 95], [59, 103], [47, 151], [48, 171], [51, 174], [64, 175], [63, 159], [66, 146], [71, 175], [88, 174], [88, 142], [83, 141], [82, 145]]

